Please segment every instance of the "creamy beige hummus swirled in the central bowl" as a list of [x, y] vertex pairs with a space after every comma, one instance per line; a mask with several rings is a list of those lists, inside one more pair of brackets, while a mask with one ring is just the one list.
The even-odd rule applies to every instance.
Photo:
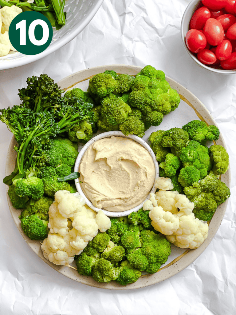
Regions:
[[84, 153], [79, 172], [81, 189], [99, 209], [125, 211], [142, 203], [155, 181], [149, 152], [119, 136], [100, 139]]

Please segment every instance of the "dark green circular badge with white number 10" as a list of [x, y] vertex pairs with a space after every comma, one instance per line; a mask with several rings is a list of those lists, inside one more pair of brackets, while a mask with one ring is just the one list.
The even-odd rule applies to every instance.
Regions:
[[42, 13], [25, 11], [12, 20], [9, 39], [22, 54], [36, 55], [48, 48], [53, 38], [53, 28]]

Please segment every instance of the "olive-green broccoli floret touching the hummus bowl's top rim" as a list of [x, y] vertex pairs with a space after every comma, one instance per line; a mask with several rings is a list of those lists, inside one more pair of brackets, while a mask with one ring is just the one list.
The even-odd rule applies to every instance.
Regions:
[[126, 120], [120, 124], [120, 130], [124, 135], [137, 135], [142, 138], [145, 135], [146, 126], [138, 117], [128, 116]]

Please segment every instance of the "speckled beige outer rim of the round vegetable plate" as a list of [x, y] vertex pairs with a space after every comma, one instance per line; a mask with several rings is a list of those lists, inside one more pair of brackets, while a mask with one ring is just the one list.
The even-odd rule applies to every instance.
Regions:
[[[98, 66], [98, 67], [88, 68], [80, 72], [71, 74], [70, 76], [65, 77], [64, 79], [60, 80], [58, 82], [58, 85], [63, 89], [68, 89], [69, 87], [74, 86], [76, 83], [85, 81], [89, 77], [92, 77], [93, 75], [95, 75], [96, 73], [104, 72], [105, 70], [115, 70], [117, 73], [127, 73], [131, 75], [135, 75], [138, 72], [140, 72], [141, 69], [142, 67], [127, 66], [127, 65]], [[180, 98], [194, 109], [194, 111], [196, 112], [196, 115], [201, 120], [205, 121], [208, 124], [216, 125], [216, 122], [214, 121], [210, 112], [207, 110], [207, 108], [195, 95], [193, 95], [188, 89], [186, 89], [185, 87], [183, 87], [176, 81], [172, 80], [170, 77], [166, 77], [166, 80], [170, 83], [173, 89], [177, 90], [177, 92], [180, 95]], [[217, 144], [220, 144], [226, 148], [224, 139], [221, 134], [220, 134], [219, 140], [217, 140]], [[8, 149], [8, 155], [7, 155], [7, 161], [6, 161], [6, 175], [9, 175], [14, 169], [15, 151], [13, 147], [14, 147], [14, 139], [11, 140], [9, 149]], [[221, 180], [225, 182], [225, 184], [228, 187], [230, 187], [230, 169], [228, 169], [226, 174], [222, 175]], [[8, 190], [8, 186], [6, 185], [6, 191], [7, 190]], [[92, 287], [97, 287], [100, 289], [111, 289], [111, 290], [129, 290], [129, 289], [140, 289], [140, 288], [148, 287], [150, 285], [158, 284], [176, 275], [178, 272], [188, 267], [196, 258], [199, 257], [199, 255], [211, 243], [212, 238], [216, 234], [222, 222], [222, 219], [223, 219], [223, 216], [225, 214], [227, 204], [228, 204], [228, 200], [227, 200], [222, 205], [219, 205], [218, 208], [216, 209], [216, 212], [213, 215], [213, 218], [211, 219], [211, 222], [209, 224], [208, 237], [206, 238], [206, 240], [204, 241], [202, 245], [200, 245], [196, 249], [186, 249], [186, 251], [183, 254], [181, 254], [176, 259], [171, 261], [168, 265], [160, 268], [158, 272], [154, 274], [143, 275], [135, 283], [122, 286], [116, 283], [115, 281], [111, 281], [110, 283], [98, 283], [95, 280], [93, 280], [91, 276], [80, 275], [77, 272], [76, 268], [74, 267], [70, 268], [67, 266], [56, 266], [50, 261], [48, 261], [46, 258], [44, 258], [42, 254], [42, 250], [41, 250], [41, 243], [39, 241], [32, 241], [25, 236], [20, 226], [20, 220], [19, 220], [20, 210], [16, 210], [12, 206], [8, 198], [8, 194], [7, 194], [7, 199], [8, 199], [8, 205], [9, 205], [11, 215], [13, 217], [13, 220], [20, 234], [24, 238], [25, 242], [35, 252], [35, 254], [37, 254], [38, 257], [40, 257], [46, 264], [48, 264], [48, 266], [52, 267], [54, 270], [58, 271], [62, 275], [74, 281], [77, 281], [79, 283], [86, 284]]]

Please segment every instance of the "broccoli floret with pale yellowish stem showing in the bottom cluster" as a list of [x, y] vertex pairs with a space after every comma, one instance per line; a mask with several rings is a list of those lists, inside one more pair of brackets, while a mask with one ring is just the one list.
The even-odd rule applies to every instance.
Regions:
[[101, 257], [109, 260], [113, 263], [114, 266], [118, 266], [119, 263], [124, 260], [126, 256], [126, 252], [123, 246], [116, 245], [112, 241], [110, 241], [107, 247], [104, 249]]

